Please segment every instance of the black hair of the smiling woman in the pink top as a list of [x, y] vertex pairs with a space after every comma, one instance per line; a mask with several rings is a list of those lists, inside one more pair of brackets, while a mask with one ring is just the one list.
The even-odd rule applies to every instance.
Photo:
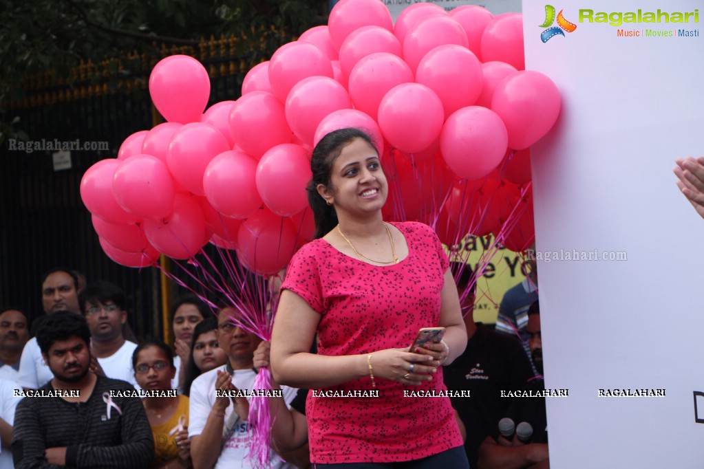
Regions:
[[352, 127], [330, 132], [320, 139], [318, 145], [313, 148], [313, 155], [310, 157], [310, 171], [313, 173], [313, 179], [310, 179], [306, 187], [306, 191], [308, 191], [308, 205], [310, 205], [310, 209], [313, 210], [313, 219], [315, 219], [315, 234], [313, 235], [313, 239], [322, 238], [337, 225], [337, 212], [335, 212], [335, 207], [327, 205], [325, 199], [320, 197], [318, 184], [323, 184], [327, 188], [330, 187], [332, 165], [340, 153], [342, 153], [342, 149], [354, 139], [362, 139], [377, 151], [377, 146], [375, 146], [369, 134]]

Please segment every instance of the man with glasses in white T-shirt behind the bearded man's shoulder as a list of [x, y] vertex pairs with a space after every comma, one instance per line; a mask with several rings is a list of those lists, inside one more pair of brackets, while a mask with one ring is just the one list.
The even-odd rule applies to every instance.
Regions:
[[96, 359], [91, 371], [127, 381], [139, 390], [132, 371], [132, 353], [137, 344], [122, 336], [122, 325], [127, 321], [125, 293], [113, 283], [97, 281], [78, 295], [78, 303], [88, 323]]

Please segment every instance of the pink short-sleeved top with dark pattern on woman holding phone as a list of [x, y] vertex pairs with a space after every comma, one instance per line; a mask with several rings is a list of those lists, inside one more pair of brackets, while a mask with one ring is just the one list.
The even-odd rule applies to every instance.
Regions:
[[[320, 313], [318, 354], [408, 347], [418, 329], [438, 325], [448, 258], [429, 226], [394, 226], [408, 244], [408, 257], [398, 264], [367, 264], [323, 239], [304, 245], [291, 259], [282, 289]], [[313, 397], [316, 390], [310, 391], [306, 418], [311, 462], [409, 461], [462, 445], [450, 400], [417, 397], [419, 392], [446, 390], [441, 368], [432, 381], [419, 386], [382, 379], [376, 384], [379, 397]], [[329, 391], [348, 395], [365, 390], [372, 390], [368, 377], [327, 388], [326, 396]], [[415, 395], [409, 396], [411, 391]]]

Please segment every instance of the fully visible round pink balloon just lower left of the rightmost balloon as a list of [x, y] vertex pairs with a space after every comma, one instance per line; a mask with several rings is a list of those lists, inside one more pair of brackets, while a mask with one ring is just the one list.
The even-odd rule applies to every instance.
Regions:
[[503, 159], [506, 127], [491, 109], [468, 106], [451, 115], [440, 134], [442, 156], [460, 178], [479, 179]]

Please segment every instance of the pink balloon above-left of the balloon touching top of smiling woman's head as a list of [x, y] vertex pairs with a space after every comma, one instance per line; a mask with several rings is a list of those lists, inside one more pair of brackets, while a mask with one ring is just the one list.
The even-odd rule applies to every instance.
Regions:
[[298, 139], [310, 145], [325, 116], [351, 108], [350, 96], [339, 82], [328, 77], [310, 77], [291, 89], [286, 100], [286, 120]]

